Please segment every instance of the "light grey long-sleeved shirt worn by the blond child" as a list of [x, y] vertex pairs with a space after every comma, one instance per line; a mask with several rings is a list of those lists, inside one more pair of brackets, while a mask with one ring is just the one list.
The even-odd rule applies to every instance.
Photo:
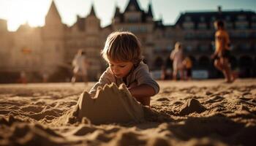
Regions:
[[121, 85], [121, 83], [124, 83], [127, 87], [129, 87], [133, 82], [137, 82], [137, 85], [146, 84], [154, 88], [156, 94], [159, 93], [159, 85], [152, 79], [148, 66], [142, 61], [138, 66], [134, 66], [131, 72], [129, 72], [126, 82], [122, 78], [116, 78], [111, 72], [110, 67], [108, 67], [108, 69], [106, 69], [99, 78], [99, 81], [91, 88], [89, 93], [94, 96], [98, 87], [103, 87], [104, 85], [111, 84], [112, 82], [115, 82], [118, 86]]

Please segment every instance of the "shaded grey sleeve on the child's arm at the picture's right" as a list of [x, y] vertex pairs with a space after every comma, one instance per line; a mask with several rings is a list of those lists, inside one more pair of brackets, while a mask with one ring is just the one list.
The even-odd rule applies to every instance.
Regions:
[[154, 88], [155, 94], [159, 93], [159, 85], [151, 77], [151, 74], [148, 71], [148, 66], [146, 64], [138, 69], [138, 72], [136, 72], [135, 76], [137, 78], [138, 85], [150, 85], [152, 88]]

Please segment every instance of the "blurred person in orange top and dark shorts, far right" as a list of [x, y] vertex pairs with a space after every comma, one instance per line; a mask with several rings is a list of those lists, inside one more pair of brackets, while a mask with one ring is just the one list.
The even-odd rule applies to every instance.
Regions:
[[233, 82], [232, 71], [230, 69], [230, 39], [225, 30], [225, 25], [222, 20], [214, 22], [214, 27], [217, 29], [215, 33], [215, 52], [212, 55], [214, 58], [214, 66], [219, 69], [225, 76], [226, 82]]

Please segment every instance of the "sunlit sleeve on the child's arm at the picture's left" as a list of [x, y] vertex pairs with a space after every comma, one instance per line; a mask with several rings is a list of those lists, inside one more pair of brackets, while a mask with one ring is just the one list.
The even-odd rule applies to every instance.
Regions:
[[89, 94], [95, 96], [98, 87], [104, 87], [106, 84], [111, 84], [114, 82], [113, 74], [111, 74], [110, 69], [108, 68], [103, 74], [99, 77], [99, 81], [91, 88]]

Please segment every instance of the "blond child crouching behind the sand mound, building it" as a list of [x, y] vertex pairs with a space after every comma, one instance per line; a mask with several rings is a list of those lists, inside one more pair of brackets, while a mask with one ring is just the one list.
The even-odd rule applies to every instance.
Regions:
[[140, 42], [134, 34], [127, 31], [110, 34], [102, 50], [109, 67], [89, 93], [94, 96], [97, 87], [111, 82], [118, 86], [124, 83], [137, 101], [149, 106], [150, 97], [159, 92], [159, 85], [149, 74], [148, 66], [143, 64], [140, 51]]

